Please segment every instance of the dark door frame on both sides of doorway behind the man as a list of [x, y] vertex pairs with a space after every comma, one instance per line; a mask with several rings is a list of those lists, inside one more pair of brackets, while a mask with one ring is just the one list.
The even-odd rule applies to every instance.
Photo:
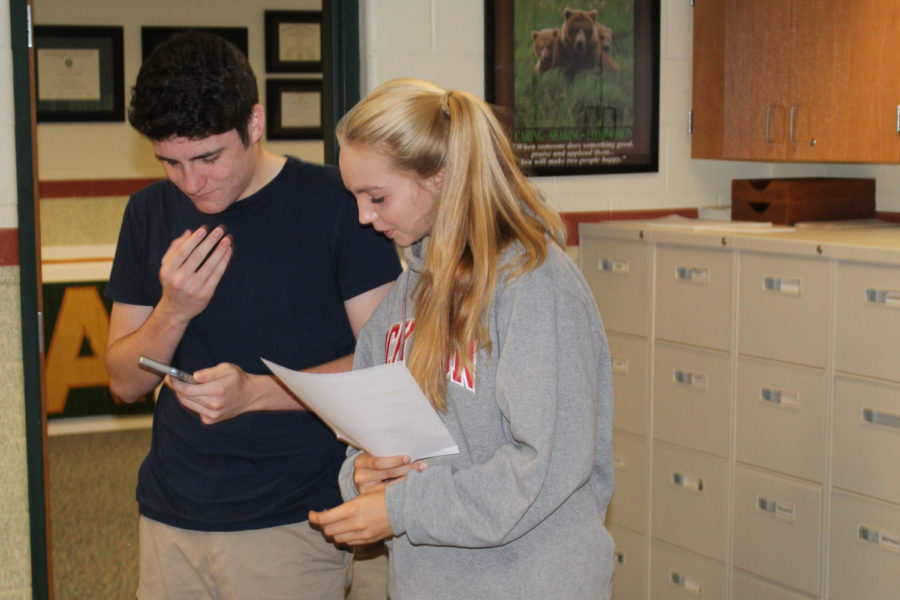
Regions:
[[[31, 535], [31, 589], [34, 600], [53, 597], [50, 548], [47, 418], [43, 403], [43, 324], [40, 272], [38, 173], [33, 141], [31, 0], [9, 0], [15, 110], [15, 154], [19, 234], [22, 362], [24, 367], [25, 440]], [[326, 102], [322, 122], [325, 162], [337, 163], [334, 125], [360, 98], [359, 0], [323, 0], [323, 64]]]

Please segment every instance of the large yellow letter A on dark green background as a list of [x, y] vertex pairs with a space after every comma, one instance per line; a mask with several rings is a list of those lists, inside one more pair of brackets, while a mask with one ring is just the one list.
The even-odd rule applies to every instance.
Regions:
[[[109, 315], [93, 286], [66, 288], [47, 351], [47, 412], [62, 413], [69, 390], [109, 385]], [[93, 356], [80, 356], [84, 340]]]

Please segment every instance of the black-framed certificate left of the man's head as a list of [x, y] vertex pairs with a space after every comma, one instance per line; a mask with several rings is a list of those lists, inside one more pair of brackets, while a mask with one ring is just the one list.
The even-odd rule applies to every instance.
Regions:
[[122, 38], [122, 27], [35, 25], [37, 121], [124, 121]]

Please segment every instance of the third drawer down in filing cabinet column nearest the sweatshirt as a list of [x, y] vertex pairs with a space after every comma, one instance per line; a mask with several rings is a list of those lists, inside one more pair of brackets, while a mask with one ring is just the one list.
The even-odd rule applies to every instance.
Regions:
[[621, 431], [613, 432], [613, 467], [615, 490], [606, 510], [606, 520], [647, 533], [650, 461], [646, 440]]

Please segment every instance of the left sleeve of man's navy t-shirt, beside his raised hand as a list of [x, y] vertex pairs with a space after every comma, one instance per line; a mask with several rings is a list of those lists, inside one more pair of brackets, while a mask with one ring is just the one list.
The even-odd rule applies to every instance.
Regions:
[[[105, 295], [123, 304], [154, 306], [159, 298], [154, 297], [154, 292], [148, 285], [146, 268], [148, 240], [145, 239], [140, 223], [137, 203], [132, 196], [122, 217], [122, 227], [119, 230], [116, 254]], [[156, 276], [156, 270], [151, 270], [149, 276]]]

